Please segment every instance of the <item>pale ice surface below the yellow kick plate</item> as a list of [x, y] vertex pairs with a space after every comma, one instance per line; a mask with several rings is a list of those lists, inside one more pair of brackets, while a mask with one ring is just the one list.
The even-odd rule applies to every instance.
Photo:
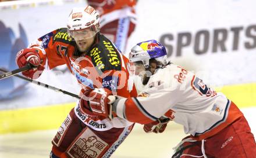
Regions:
[[[241, 111], [256, 134], [256, 108], [245, 108]], [[57, 130], [35, 131], [20, 134], [0, 135], [0, 158], [43, 158], [49, 157], [51, 140]], [[111, 158], [170, 158], [173, 150], [186, 135], [182, 126], [170, 122], [161, 134], [144, 133], [143, 126], [136, 124], [131, 134], [113, 153]]]

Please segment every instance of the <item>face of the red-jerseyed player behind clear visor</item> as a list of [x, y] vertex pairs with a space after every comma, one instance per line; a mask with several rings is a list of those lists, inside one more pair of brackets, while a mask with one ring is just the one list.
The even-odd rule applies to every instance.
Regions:
[[93, 45], [95, 34], [95, 31], [91, 31], [90, 28], [82, 31], [72, 31], [72, 37], [76, 41], [80, 52], [86, 52]]

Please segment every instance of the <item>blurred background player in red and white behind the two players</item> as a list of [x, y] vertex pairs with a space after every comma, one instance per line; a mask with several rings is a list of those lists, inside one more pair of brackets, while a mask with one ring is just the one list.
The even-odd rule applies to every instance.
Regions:
[[136, 27], [136, 0], [88, 0], [98, 10], [101, 33], [125, 52], [127, 40]]

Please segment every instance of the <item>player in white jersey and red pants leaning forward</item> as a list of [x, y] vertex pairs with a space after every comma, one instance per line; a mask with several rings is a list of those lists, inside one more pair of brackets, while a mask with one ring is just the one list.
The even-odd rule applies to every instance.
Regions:
[[95, 89], [89, 95], [96, 96], [90, 101], [94, 113], [146, 124], [146, 132], [161, 133], [170, 120], [182, 124], [190, 136], [177, 145], [172, 157], [256, 157], [254, 135], [239, 108], [193, 72], [167, 62], [161, 43], [138, 43], [129, 60], [130, 71], [141, 76], [144, 89], [138, 97], [115, 96], [111, 105], [106, 103], [111, 93]]

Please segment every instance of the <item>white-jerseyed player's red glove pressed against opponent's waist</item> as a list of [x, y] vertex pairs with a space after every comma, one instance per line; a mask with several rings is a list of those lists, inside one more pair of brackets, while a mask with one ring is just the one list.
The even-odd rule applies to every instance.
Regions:
[[109, 104], [112, 104], [113, 101], [111, 102], [108, 98], [109, 96], [113, 97], [111, 94], [112, 92], [109, 89], [94, 89], [90, 92], [89, 102], [93, 113], [104, 117], [108, 117], [112, 113], [111, 105]]

